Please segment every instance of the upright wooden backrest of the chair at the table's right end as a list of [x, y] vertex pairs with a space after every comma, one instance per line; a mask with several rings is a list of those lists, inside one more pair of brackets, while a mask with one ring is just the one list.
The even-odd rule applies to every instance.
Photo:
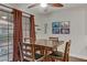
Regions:
[[64, 62], [69, 61], [69, 47], [70, 47], [70, 40], [66, 42], [65, 52], [64, 52]]

